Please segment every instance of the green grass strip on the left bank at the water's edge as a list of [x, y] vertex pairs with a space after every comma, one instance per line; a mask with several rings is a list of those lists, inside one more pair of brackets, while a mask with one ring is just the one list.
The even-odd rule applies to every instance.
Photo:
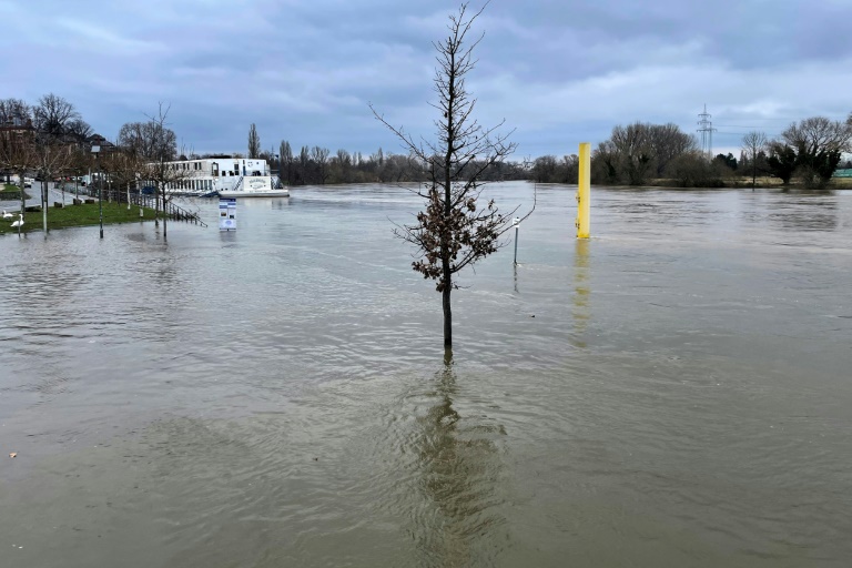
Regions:
[[[139, 210], [142, 210], [142, 216]], [[7, 210], [8, 211], [8, 210]], [[10, 213], [12, 213], [10, 211]], [[18, 229], [12, 227], [13, 221], [18, 220], [19, 211], [13, 212], [12, 219], [0, 220], [0, 234], [17, 234]], [[28, 211], [24, 213], [24, 223], [22, 233], [34, 233], [42, 231], [42, 212]], [[126, 203], [103, 203], [103, 224], [112, 225], [118, 223], [133, 223], [142, 221], [153, 221], [154, 210], [132, 205], [128, 209]], [[68, 229], [72, 226], [91, 226], [100, 224], [100, 211], [98, 203], [82, 203], [80, 205], [65, 205], [64, 207], [51, 207], [48, 211], [48, 231], [54, 229]]]

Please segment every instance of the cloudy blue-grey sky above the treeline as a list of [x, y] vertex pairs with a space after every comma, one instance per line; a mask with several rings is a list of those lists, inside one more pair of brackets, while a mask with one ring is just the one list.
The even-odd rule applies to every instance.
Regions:
[[[432, 138], [432, 42], [445, 0], [0, 0], [0, 98], [53, 92], [114, 139], [171, 104], [196, 152], [290, 141], [403, 152], [372, 115]], [[473, 1], [478, 9], [483, 2]], [[577, 152], [615, 124], [698, 129], [717, 151], [852, 111], [852, 1], [491, 0], [468, 78], [477, 118], [515, 129], [516, 158]]]

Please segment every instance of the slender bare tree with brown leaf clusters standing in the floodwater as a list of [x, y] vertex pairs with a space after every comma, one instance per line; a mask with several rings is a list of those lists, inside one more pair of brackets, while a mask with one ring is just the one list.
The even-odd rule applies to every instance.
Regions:
[[415, 190], [425, 200], [426, 209], [417, 213], [416, 223], [397, 225], [394, 234], [417, 247], [417, 260], [412, 267], [437, 282], [444, 308], [445, 361], [449, 361], [453, 353], [450, 294], [458, 287], [454, 276], [505, 244], [499, 237], [510, 227], [516, 211], [504, 215], [494, 200], [479, 201], [481, 174], [503, 162], [516, 148], [508, 134], [498, 132], [503, 122], [484, 128], [476, 121], [473, 115], [476, 99], [465, 84], [476, 64], [474, 49], [483, 39], [483, 36], [470, 39], [468, 34], [483, 10], [468, 17], [467, 4], [462, 4], [458, 14], [449, 17], [448, 37], [433, 43], [438, 52], [434, 79], [438, 101], [432, 104], [438, 111], [437, 142], [415, 142], [403, 128], [390, 125], [371, 105], [376, 119], [428, 170], [427, 186]]

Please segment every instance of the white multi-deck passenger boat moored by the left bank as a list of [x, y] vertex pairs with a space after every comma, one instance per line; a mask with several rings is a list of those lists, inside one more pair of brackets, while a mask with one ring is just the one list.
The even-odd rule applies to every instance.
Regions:
[[178, 195], [219, 194], [220, 197], [286, 197], [290, 190], [282, 185], [266, 160], [252, 158], [200, 158], [169, 162], [171, 168], [187, 172], [187, 179], [166, 185]]

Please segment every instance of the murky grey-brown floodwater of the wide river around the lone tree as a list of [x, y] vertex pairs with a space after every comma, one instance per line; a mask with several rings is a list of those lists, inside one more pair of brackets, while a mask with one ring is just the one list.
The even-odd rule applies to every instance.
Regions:
[[400, 189], [0, 237], [0, 565], [849, 566], [852, 193], [574, 194], [449, 367]]

